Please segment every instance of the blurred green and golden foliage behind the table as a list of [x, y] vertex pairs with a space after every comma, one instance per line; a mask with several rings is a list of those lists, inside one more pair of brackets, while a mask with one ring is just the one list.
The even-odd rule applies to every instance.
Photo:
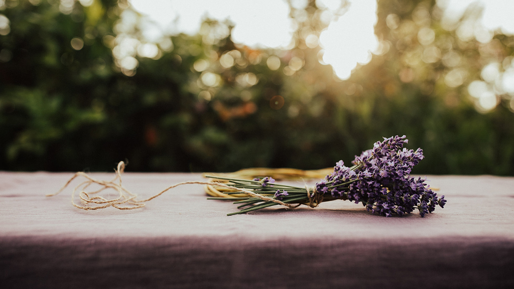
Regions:
[[[206, 40], [231, 29], [206, 20], [204, 32], [159, 44], [159, 57], [136, 57], [135, 70], [113, 56], [125, 2], [77, 2], [67, 13], [58, 1], [4, 2], [0, 170], [97, 171], [119, 160], [132, 171], [318, 169], [405, 134], [410, 148], [425, 151], [415, 173], [514, 174], [509, 99], [478, 112], [467, 92], [485, 64], [514, 55], [514, 39], [463, 42], [440, 27], [434, 1], [379, 1], [376, 34], [387, 49], [345, 81], [320, 64], [320, 47], [303, 41], [305, 27], [323, 28], [314, 2], [291, 50], [237, 45], [230, 34]], [[429, 14], [418, 21], [420, 9]], [[421, 61], [423, 27], [435, 31], [441, 55], [458, 53], [460, 62]], [[233, 65], [221, 65], [224, 55]], [[272, 56], [279, 69], [270, 69]], [[293, 58], [302, 63], [291, 73]], [[448, 85], [445, 76], [457, 68], [466, 80]]]

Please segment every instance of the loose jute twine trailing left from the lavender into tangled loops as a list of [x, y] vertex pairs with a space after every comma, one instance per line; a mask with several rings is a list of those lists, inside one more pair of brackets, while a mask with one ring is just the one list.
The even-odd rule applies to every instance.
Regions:
[[[266, 201], [266, 202], [271, 201], [271, 202], [277, 203], [279, 205], [282, 205], [282, 206], [285, 206], [288, 208], [294, 207], [294, 206], [291, 206], [290, 204], [287, 204], [280, 200], [277, 200], [276, 198], [261, 195], [259, 193], [255, 193], [248, 189], [235, 188], [233, 186], [226, 185], [223, 183], [199, 182], [199, 181], [177, 183], [175, 185], [172, 185], [172, 186], [162, 190], [161, 192], [159, 192], [158, 194], [156, 194], [154, 196], [146, 198], [145, 200], [136, 200], [137, 194], [132, 193], [131, 191], [127, 190], [125, 187], [122, 186], [121, 174], [123, 173], [124, 169], [125, 169], [125, 163], [123, 161], [120, 161], [118, 163], [117, 169], [115, 170], [116, 176], [112, 180], [109, 180], [109, 181], [98, 180], [98, 179], [95, 179], [95, 178], [87, 175], [84, 172], [77, 172], [77, 173], [75, 173], [74, 176], [72, 176], [68, 180], [68, 182], [59, 191], [57, 191], [56, 193], [47, 194], [46, 196], [54, 196], [54, 195], [61, 193], [72, 182], [72, 180], [74, 180], [75, 178], [77, 178], [79, 176], [82, 176], [82, 177], [86, 178], [87, 180], [80, 183], [77, 187], [74, 188], [74, 190], [71, 193], [71, 204], [74, 205], [75, 207], [77, 207], [79, 209], [83, 209], [83, 210], [98, 210], [98, 209], [103, 209], [103, 208], [107, 208], [107, 207], [111, 207], [111, 206], [115, 207], [116, 209], [119, 209], [119, 210], [137, 209], [137, 208], [144, 207], [145, 202], [148, 202], [148, 201], [152, 200], [153, 198], [160, 196], [161, 194], [163, 194], [164, 192], [167, 192], [170, 189], [173, 189], [173, 188], [181, 186], [181, 185], [188, 185], [188, 184], [199, 184], [199, 185], [209, 185], [209, 186], [214, 185], [216, 187], [222, 187], [222, 188], [226, 188], [226, 189], [230, 189], [230, 190], [240, 191], [240, 192], [246, 193], [250, 196], [260, 198], [261, 200]], [[85, 192], [85, 189], [87, 189], [92, 184], [100, 185], [101, 188], [96, 191], [93, 191], [93, 192], [89, 192], [89, 193]], [[109, 188], [116, 190], [118, 192], [118, 197], [108, 199], [108, 198], [105, 198], [102, 196], [95, 195], [95, 194], [98, 194]], [[80, 193], [79, 193], [80, 200], [82, 200], [82, 202], [85, 204], [85, 206], [81, 206], [81, 205], [75, 203], [75, 193], [78, 190], [80, 190]], [[310, 193], [308, 193], [308, 195], [309, 195], [309, 199], [310, 199]], [[120, 206], [120, 205], [123, 205], [123, 206]]]

